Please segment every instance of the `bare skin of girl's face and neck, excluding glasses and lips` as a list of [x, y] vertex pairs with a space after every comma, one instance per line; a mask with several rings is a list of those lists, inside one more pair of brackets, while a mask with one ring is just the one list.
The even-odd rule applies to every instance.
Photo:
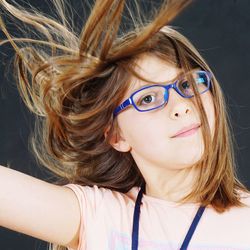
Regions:
[[[138, 65], [137, 72], [152, 81], [170, 83], [180, 73], [180, 69], [152, 55], [143, 55]], [[123, 101], [145, 84], [135, 79]], [[203, 93], [201, 100], [213, 135], [211, 92]], [[145, 178], [146, 195], [178, 202], [189, 193], [198, 174], [192, 166], [204, 150], [201, 128], [187, 137], [171, 136], [184, 126], [200, 123], [194, 102], [170, 89], [168, 103], [163, 108], [138, 112], [131, 106], [119, 113], [117, 119], [120, 136], [113, 138], [111, 145], [121, 152], [130, 151]]]

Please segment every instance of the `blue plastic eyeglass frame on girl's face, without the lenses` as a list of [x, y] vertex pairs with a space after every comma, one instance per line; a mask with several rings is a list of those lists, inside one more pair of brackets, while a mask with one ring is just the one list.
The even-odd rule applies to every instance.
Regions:
[[[213, 76], [212, 73], [209, 72], [209, 71], [206, 71], [206, 70], [196, 70], [196, 71], [194, 71], [194, 72], [197, 72], [197, 73], [199, 73], [199, 72], [204, 73], [204, 72], [205, 72], [206, 75], [208, 76], [208, 87], [207, 87], [206, 90], [204, 90], [203, 92], [201, 92], [201, 93], [199, 93], [199, 94], [203, 94], [203, 93], [207, 92], [207, 91], [211, 88], [211, 86], [212, 86], [212, 84], [211, 84], [211, 78], [212, 78], [212, 76]], [[145, 86], [145, 87], [142, 87], [142, 88], [136, 90], [135, 92], [133, 92], [133, 93], [130, 95], [130, 97], [129, 97], [128, 99], [126, 99], [126, 100], [125, 100], [124, 102], [122, 102], [118, 107], [115, 108], [115, 110], [114, 110], [114, 112], [113, 112], [113, 116], [114, 116], [114, 117], [117, 116], [121, 111], [123, 111], [124, 109], [126, 109], [126, 108], [129, 107], [130, 105], [133, 105], [134, 108], [135, 108], [137, 111], [139, 111], [139, 112], [148, 112], [148, 111], [151, 111], [151, 110], [154, 110], [154, 109], [158, 109], [158, 108], [164, 106], [164, 105], [167, 103], [168, 99], [166, 99], [166, 96], [167, 96], [167, 98], [169, 97], [169, 89], [171, 89], [171, 88], [173, 88], [180, 96], [182, 96], [182, 97], [184, 97], [184, 98], [191, 98], [191, 97], [193, 97], [194, 95], [185, 96], [185, 95], [183, 95], [183, 94], [179, 91], [179, 89], [177, 88], [176, 85], [177, 85], [177, 83], [178, 83], [179, 81], [181, 81], [181, 80], [183, 80], [183, 78], [177, 79], [174, 83], [170, 83], [170, 84], [168, 83], [167, 85], [163, 85], [163, 84], [152, 84], [152, 85]], [[135, 94], [137, 94], [137, 93], [138, 93], [139, 91], [141, 91], [141, 90], [148, 89], [148, 88], [152, 88], [152, 87], [155, 87], [155, 86], [164, 87], [164, 88], [165, 88], [165, 92], [164, 92], [164, 93], [166, 93], [166, 91], [167, 91], [167, 93], [168, 93], [168, 95], [164, 94], [164, 102], [163, 102], [163, 104], [160, 105], [160, 106], [158, 106], [158, 107], [155, 107], [155, 108], [146, 109], [146, 110], [139, 110], [139, 109], [137, 108], [136, 104], [135, 104], [134, 101], [133, 101], [133, 96], [134, 96]]]

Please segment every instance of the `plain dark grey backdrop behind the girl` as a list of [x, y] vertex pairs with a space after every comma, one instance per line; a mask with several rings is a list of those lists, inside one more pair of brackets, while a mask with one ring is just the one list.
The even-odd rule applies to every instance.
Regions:
[[[30, 0], [30, 2], [48, 12], [47, 1]], [[69, 2], [82, 16], [81, 1]], [[146, 4], [153, 1], [139, 2]], [[159, 3], [159, 1], [154, 2]], [[238, 175], [248, 187], [250, 187], [249, 13], [249, 0], [199, 0], [193, 2], [172, 22], [172, 25], [178, 26], [178, 30], [197, 47], [221, 83], [237, 141]], [[12, 55], [12, 52], [8, 46], [0, 50], [0, 164], [4, 166], [7, 163], [11, 164], [14, 169], [50, 182], [53, 176], [36, 164], [28, 149], [33, 116], [20, 100], [11, 76], [5, 74], [8, 68], [8, 56]], [[0, 250], [44, 250], [46, 247], [43, 241], [0, 227]]]

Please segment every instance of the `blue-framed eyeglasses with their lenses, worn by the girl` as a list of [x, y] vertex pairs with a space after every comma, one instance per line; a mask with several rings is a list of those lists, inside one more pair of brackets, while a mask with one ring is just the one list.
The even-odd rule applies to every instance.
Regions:
[[[191, 77], [193, 77], [198, 93], [202, 94], [210, 89], [212, 78], [211, 72], [195, 70], [188, 72], [185, 76], [188, 74], [191, 74]], [[175, 89], [175, 91], [184, 98], [191, 98], [194, 96], [193, 88], [188, 82], [187, 77], [181, 78], [176, 80], [174, 83], [167, 85], [154, 84], [142, 87], [132, 93], [127, 100], [114, 110], [113, 115], [116, 116], [130, 105], [133, 105], [139, 112], [147, 112], [158, 109], [168, 102], [168, 90], [170, 88]]]

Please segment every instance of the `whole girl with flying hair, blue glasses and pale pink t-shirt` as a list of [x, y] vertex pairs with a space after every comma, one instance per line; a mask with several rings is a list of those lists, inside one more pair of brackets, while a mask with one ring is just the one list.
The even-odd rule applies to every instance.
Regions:
[[62, 180], [1, 167], [1, 226], [53, 249], [250, 249], [250, 192], [236, 176], [223, 93], [168, 26], [189, 2], [164, 3], [150, 22], [131, 14], [124, 33], [125, 1], [96, 1], [76, 35], [62, 0], [60, 21], [1, 0], [42, 35], [13, 37], [0, 19], [39, 117], [34, 152]]

